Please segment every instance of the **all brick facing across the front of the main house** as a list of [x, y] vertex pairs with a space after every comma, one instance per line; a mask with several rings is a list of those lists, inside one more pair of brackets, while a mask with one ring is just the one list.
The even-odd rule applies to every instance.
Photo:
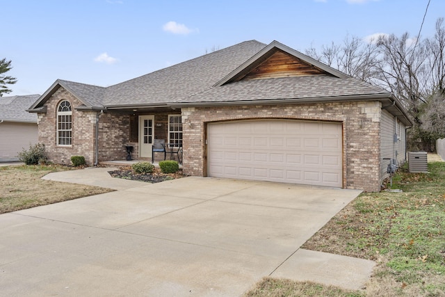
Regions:
[[[73, 107], [73, 140], [69, 147], [56, 144], [56, 108], [65, 99]], [[56, 90], [44, 105], [47, 113], [38, 114], [39, 142], [46, 146], [49, 160], [69, 164], [71, 156], [81, 155], [92, 166], [97, 111], [77, 111], [75, 108], [82, 103], [64, 88]], [[174, 113], [155, 113], [155, 138], [168, 141], [168, 114]], [[181, 115], [186, 175], [207, 175], [204, 143], [209, 122], [260, 118], [323, 120], [343, 125], [343, 188], [380, 191], [380, 102], [191, 107], [181, 109]], [[156, 127], [156, 123], [161, 123], [161, 127]], [[138, 143], [129, 141], [130, 129], [129, 115], [102, 113], [99, 116], [99, 162], [124, 160], [125, 145], [133, 145], [133, 159], [138, 159]], [[156, 161], [161, 159], [163, 156], [157, 154]]]

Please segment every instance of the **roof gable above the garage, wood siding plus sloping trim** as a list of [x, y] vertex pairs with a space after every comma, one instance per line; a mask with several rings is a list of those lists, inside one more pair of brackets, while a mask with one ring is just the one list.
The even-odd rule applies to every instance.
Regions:
[[338, 78], [349, 76], [305, 54], [273, 41], [232, 73], [218, 81], [215, 86], [242, 79], [269, 79], [326, 74]]

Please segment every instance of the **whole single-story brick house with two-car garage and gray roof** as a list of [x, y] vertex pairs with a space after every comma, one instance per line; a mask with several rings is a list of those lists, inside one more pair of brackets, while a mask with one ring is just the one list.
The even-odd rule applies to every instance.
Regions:
[[[271, 42], [241, 42], [106, 88], [57, 80], [30, 107], [49, 159], [152, 160], [183, 148], [188, 175], [379, 191], [405, 161], [398, 99]], [[158, 155], [163, 158], [163, 155]]]

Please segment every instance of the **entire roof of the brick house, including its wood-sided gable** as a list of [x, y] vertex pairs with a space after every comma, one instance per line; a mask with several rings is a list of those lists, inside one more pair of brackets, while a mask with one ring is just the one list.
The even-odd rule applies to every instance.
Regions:
[[[276, 66], [277, 73], [271, 73]], [[60, 87], [83, 103], [77, 109], [93, 110], [379, 99], [410, 125], [403, 106], [391, 93], [277, 41], [269, 45], [256, 40], [241, 42], [107, 88], [57, 80], [29, 111], [44, 112], [44, 102]]]

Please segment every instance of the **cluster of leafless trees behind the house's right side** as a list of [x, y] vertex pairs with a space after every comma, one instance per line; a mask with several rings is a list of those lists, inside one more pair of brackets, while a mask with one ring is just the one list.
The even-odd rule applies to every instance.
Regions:
[[306, 51], [330, 67], [385, 88], [401, 100], [414, 125], [408, 145], [432, 150], [435, 139], [445, 136], [445, 26], [437, 19], [432, 38], [380, 35], [365, 42], [346, 36], [342, 45], [332, 42]]

